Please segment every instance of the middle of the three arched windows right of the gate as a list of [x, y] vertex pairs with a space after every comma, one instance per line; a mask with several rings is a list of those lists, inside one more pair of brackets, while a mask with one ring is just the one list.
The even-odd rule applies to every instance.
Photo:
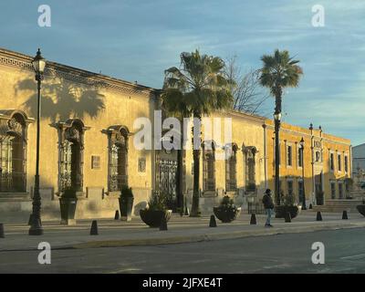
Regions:
[[227, 145], [225, 149], [225, 189], [228, 192], [237, 189], [237, 149], [235, 143]]

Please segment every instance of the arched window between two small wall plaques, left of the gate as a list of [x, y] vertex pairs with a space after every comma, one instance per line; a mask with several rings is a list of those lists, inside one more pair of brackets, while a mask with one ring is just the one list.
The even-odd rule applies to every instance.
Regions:
[[103, 130], [108, 135], [108, 189], [110, 192], [120, 191], [128, 186], [128, 135], [127, 127], [116, 125]]

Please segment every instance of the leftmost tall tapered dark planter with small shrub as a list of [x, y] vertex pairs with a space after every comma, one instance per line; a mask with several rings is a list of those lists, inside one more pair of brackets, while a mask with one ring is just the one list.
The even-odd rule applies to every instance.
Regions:
[[72, 187], [66, 188], [59, 198], [61, 209], [61, 224], [75, 224], [75, 213], [78, 198], [76, 190]]

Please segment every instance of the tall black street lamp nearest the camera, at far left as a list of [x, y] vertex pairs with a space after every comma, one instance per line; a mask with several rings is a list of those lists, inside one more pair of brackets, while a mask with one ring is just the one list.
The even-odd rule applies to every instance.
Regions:
[[36, 57], [32, 61], [32, 66], [36, 72], [37, 82], [37, 112], [36, 112], [36, 176], [33, 193], [33, 220], [30, 225], [29, 235], [43, 235], [43, 228], [40, 220], [41, 198], [39, 193], [39, 135], [40, 135], [40, 86], [43, 80], [43, 73], [46, 67], [46, 60], [41, 56], [40, 49], [36, 52]]

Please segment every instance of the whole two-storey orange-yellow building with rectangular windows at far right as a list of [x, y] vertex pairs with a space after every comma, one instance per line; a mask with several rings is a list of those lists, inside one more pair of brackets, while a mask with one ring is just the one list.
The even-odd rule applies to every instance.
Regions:
[[[275, 189], [275, 130], [274, 121], [266, 120], [267, 179]], [[300, 141], [304, 141], [301, 151]], [[349, 195], [351, 177], [351, 145], [347, 139], [325, 133], [320, 126], [312, 124], [308, 129], [281, 124], [280, 145], [280, 189], [282, 193], [293, 193], [297, 202], [303, 202], [303, 182], [308, 203], [319, 203], [323, 199], [345, 199]], [[303, 153], [303, 154], [302, 154]], [[303, 158], [301, 157], [303, 155]]]

